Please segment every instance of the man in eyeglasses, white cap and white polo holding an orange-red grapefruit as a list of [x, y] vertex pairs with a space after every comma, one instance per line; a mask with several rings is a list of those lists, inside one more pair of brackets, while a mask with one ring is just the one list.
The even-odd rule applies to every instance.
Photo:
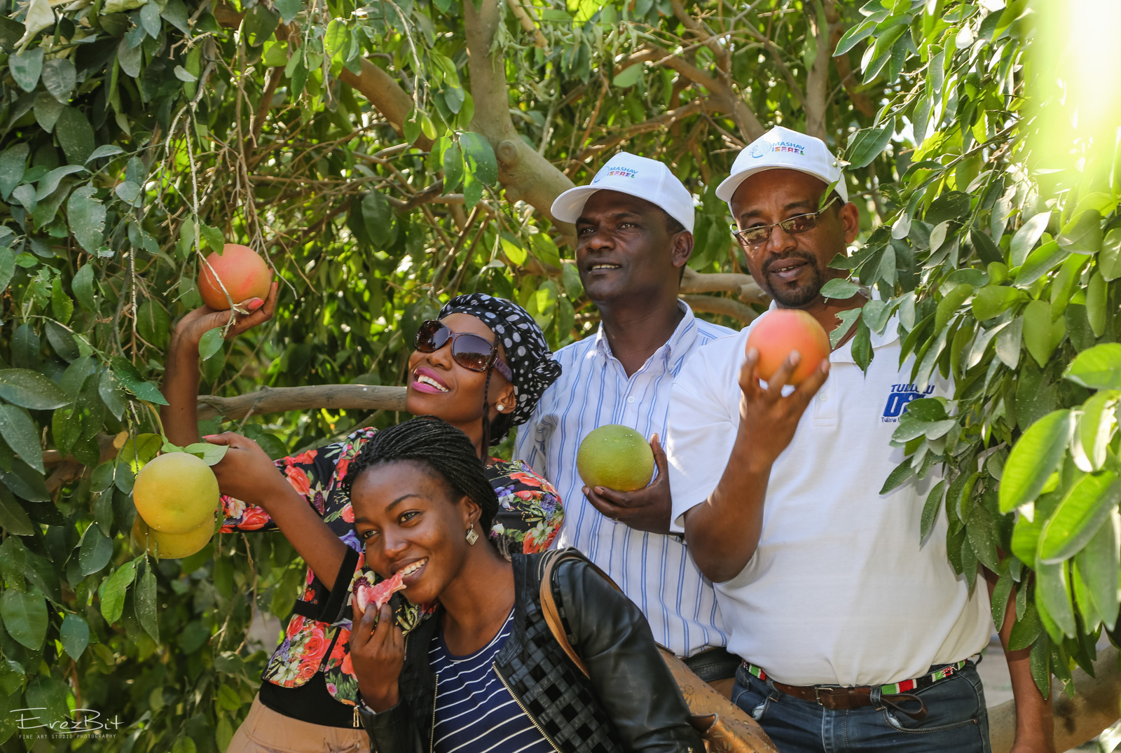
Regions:
[[[716, 195], [772, 309], [809, 313], [836, 342], [797, 387], [787, 382], [798, 354], [762, 384], [758, 352], [744, 352], [748, 327], [700, 348], [674, 382], [674, 523], [715, 584], [729, 650], [744, 660], [733, 700], [782, 753], [988, 753], [974, 666], [992, 625], [984, 589], [971, 589], [948, 563], [944, 508], [919, 538], [937, 474], [880, 493], [904, 461], [890, 445], [899, 396], [948, 387], [910, 383], [914, 360], [900, 365], [895, 319], [882, 335], [853, 340], [853, 319], [844, 325], [839, 315], [862, 307], [863, 294], [822, 296], [828, 280], [845, 277], [830, 263], [859, 230], [823, 141], [772, 129], [736, 157]], [[874, 352], [867, 373], [856, 345]], [[1050, 713], [1027, 651], [1008, 659], [1019, 709], [1013, 750], [1050, 751]]]

